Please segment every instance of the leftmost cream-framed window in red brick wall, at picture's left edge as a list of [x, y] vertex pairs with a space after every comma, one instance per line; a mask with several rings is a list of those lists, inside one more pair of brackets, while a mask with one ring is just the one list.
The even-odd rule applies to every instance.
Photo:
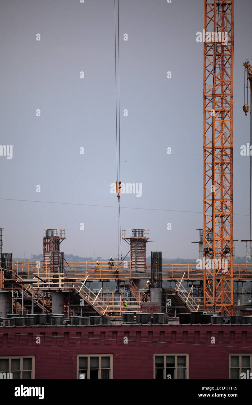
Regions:
[[0, 379], [35, 378], [35, 356], [0, 357]]

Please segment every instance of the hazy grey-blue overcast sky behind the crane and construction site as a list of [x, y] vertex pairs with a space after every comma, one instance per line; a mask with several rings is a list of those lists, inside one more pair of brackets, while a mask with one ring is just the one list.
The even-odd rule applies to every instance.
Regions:
[[[139, 208], [121, 209], [121, 227], [127, 234], [150, 229], [147, 256], [159, 250], [163, 257], [198, 257], [190, 241], [199, 238], [202, 213], [141, 208], [202, 212], [203, 43], [196, 32], [203, 30], [203, 13], [203, 0], [119, 0], [121, 181], [142, 183], [142, 196], [121, 195], [122, 207]], [[240, 147], [249, 142], [242, 106], [251, 17], [251, 0], [235, 0], [233, 201], [234, 214], [247, 215], [249, 157]], [[116, 181], [114, 0], [1, 0], [0, 49], [0, 144], [13, 145], [12, 159], [0, 156], [0, 197], [117, 207], [110, 193]], [[115, 257], [113, 207], [1, 199], [4, 252], [40, 254], [44, 228], [63, 228], [66, 254], [93, 256], [95, 249], [95, 256]], [[234, 239], [250, 238], [248, 216], [234, 215], [233, 224]], [[125, 241], [122, 247], [126, 254]], [[235, 254], [245, 256], [244, 243]]]

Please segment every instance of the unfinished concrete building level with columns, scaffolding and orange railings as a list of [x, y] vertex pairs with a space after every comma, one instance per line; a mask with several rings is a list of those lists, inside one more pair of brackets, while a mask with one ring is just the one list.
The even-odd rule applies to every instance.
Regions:
[[[117, 262], [114, 259], [98, 263], [64, 261], [60, 245], [66, 239], [65, 230], [44, 231], [42, 262], [13, 262], [11, 253], [1, 252], [2, 322], [4, 319], [7, 322], [7, 315], [10, 314], [56, 313], [64, 314], [66, 319], [85, 315], [121, 317], [125, 311], [149, 312], [148, 308], [153, 305], [157, 313], [168, 313], [170, 318], [178, 318], [179, 313], [191, 311], [228, 316], [240, 314], [246, 307], [251, 307], [250, 256], [246, 256], [246, 264], [230, 266], [231, 260], [233, 263], [232, 255], [224, 252], [230, 249], [230, 241], [226, 245], [224, 239], [221, 241], [224, 249], [210, 256], [210, 259], [218, 259], [216, 262], [206, 262], [209, 269], [206, 269], [207, 266], [203, 269], [202, 265], [195, 263], [162, 263], [161, 252], [151, 252], [151, 263], [146, 264], [146, 244], [150, 230], [132, 229], [129, 230], [129, 236], [123, 230], [122, 239], [129, 243], [127, 255], [130, 254], [130, 261], [122, 258], [115, 270]], [[203, 230], [199, 231], [199, 241], [193, 243], [199, 244], [199, 258], [204, 263], [204, 240], [207, 240], [211, 249], [213, 241], [210, 238], [204, 239]], [[1, 228], [1, 246], [3, 232]], [[227, 236], [225, 238], [227, 242]], [[246, 252], [249, 252], [247, 246]], [[212, 278], [207, 271], [211, 271]], [[93, 281], [101, 283], [98, 292], [93, 292]], [[108, 292], [111, 290], [110, 281], [116, 281], [113, 292]], [[212, 288], [209, 283], [212, 283]], [[218, 286], [221, 283], [223, 290]], [[213, 286], [220, 289], [218, 300], [214, 299]]]

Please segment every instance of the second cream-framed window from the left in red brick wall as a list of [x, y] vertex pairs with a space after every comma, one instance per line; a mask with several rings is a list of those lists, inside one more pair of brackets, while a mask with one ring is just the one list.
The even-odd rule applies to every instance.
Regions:
[[80, 379], [112, 379], [113, 378], [113, 355], [91, 354], [77, 356], [78, 373]]

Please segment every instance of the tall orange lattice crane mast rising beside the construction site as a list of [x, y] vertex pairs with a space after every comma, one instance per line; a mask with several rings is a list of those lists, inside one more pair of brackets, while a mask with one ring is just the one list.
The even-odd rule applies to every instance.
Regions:
[[204, 310], [233, 315], [234, 0], [205, 0]]

